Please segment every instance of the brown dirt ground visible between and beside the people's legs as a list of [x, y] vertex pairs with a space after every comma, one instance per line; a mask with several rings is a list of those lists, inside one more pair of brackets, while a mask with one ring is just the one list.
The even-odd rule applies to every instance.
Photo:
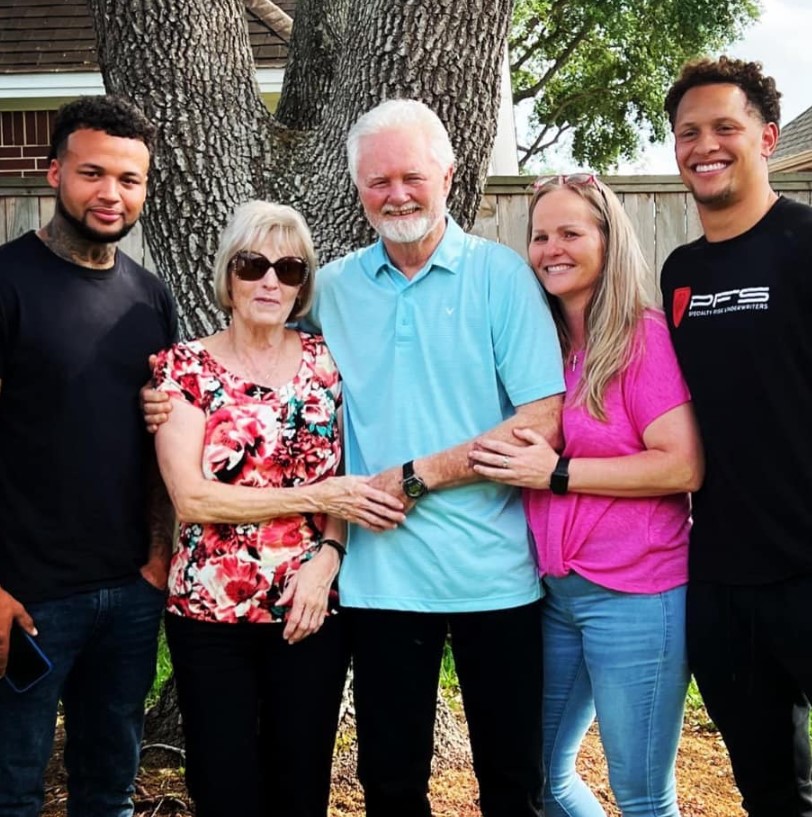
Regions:
[[[65, 815], [61, 745], [60, 727], [48, 772], [43, 817]], [[581, 773], [604, 804], [608, 817], [620, 817], [594, 727], [587, 736], [579, 763]], [[721, 738], [710, 727], [702, 710], [689, 712], [686, 716], [677, 786], [682, 817], [744, 817]], [[480, 817], [476, 780], [469, 768], [445, 769], [437, 773], [431, 784], [431, 801], [435, 817]], [[136, 812], [147, 817], [189, 817], [192, 812], [181, 771], [143, 768], [137, 781]], [[334, 786], [330, 817], [363, 817], [363, 813], [361, 792], [354, 781]]]

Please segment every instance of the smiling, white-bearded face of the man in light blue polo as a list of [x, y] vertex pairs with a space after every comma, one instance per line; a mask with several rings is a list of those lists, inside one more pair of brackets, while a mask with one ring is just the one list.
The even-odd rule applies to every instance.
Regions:
[[357, 186], [367, 219], [394, 244], [442, 233], [451, 167], [441, 168], [418, 127], [384, 130], [360, 142]]

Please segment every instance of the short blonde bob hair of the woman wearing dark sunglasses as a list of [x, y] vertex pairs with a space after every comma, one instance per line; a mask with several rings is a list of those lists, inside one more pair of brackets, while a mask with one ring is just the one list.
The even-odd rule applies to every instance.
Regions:
[[288, 207], [287, 204], [249, 201], [234, 211], [231, 221], [223, 230], [220, 246], [214, 257], [214, 297], [220, 308], [228, 315], [234, 306], [228, 262], [241, 250], [256, 248], [268, 238], [273, 238], [279, 245], [289, 245], [307, 262], [309, 274], [299, 289], [289, 317], [299, 318], [310, 309], [318, 261], [307, 223], [298, 210]]

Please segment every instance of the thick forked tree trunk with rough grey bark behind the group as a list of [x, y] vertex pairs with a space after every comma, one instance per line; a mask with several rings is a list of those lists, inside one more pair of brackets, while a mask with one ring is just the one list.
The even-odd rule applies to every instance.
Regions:
[[144, 226], [187, 335], [210, 333], [210, 264], [235, 205], [290, 203], [323, 261], [371, 239], [344, 139], [379, 101], [416, 97], [458, 157], [451, 211], [473, 223], [496, 133], [510, 0], [300, 0], [278, 116], [258, 94], [241, 0], [88, 0], [108, 91], [160, 128]]

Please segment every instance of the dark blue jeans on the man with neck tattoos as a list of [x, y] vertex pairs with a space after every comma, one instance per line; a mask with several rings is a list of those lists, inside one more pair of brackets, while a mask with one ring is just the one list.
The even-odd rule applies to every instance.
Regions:
[[37, 817], [65, 714], [68, 817], [133, 813], [144, 698], [155, 675], [164, 594], [122, 587], [26, 605], [53, 670], [27, 692], [0, 683], [0, 817]]

